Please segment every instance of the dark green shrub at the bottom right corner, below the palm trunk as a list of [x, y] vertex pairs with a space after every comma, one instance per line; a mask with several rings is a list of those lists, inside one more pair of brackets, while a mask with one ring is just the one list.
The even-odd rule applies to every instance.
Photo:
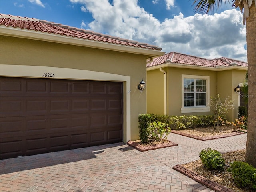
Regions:
[[252, 165], [234, 161], [228, 169], [232, 172], [234, 182], [240, 187], [252, 187], [256, 190], [256, 168]]

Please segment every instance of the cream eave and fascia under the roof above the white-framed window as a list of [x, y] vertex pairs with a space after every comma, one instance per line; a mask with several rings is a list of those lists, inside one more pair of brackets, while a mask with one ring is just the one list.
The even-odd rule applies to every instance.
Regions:
[[188, 64], [178, 64], [178, 63], [170, 63], [165, 62], [160, 65], [147, 67], [147, 71], [156, 70], [159, 68], [165, 67], [175, 67], [175, 68], [187, 68], [187, 69], [196, 69], [196, 70], [211, 70], [211, 71], [225, 71], [225, 70], [247, 70], [246, 66], [216, 66], [216, 67], [207, 67], [207, 66], [196, 66], [196, 65], [188, 65]]

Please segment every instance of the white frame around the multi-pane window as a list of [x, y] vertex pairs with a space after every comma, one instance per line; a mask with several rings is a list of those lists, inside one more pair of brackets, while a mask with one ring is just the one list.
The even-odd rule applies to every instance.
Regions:
[[[184, 78], [190, 79], [204, 79], [206, 80], [206, 106], [192, 106], [184, 107]], [[210, 76], [200, 75], [181, 75], [181, 113], [196, 113], [196, 112], [209, 112], [210, 111]]]

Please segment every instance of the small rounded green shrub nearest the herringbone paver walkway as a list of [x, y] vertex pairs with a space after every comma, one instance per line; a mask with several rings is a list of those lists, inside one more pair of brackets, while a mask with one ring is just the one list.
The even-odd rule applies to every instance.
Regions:
[[200, 160], [210, 170], [223, 170], [223, 166], [225, 165], [221, 153], [211, 148], [203, 149], [200, 152]]

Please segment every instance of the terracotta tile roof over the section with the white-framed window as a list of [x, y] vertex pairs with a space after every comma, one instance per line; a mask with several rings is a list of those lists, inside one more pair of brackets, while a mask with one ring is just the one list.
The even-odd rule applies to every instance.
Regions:
[[213, 67], [216, 66], [245, 66], [247, 63], [243, 61], [238, 61], [226, 57], [216, 58], [216, 59], [206, 59], [196, 56], [170, 52], [162, 56], [156, 57], [152, 62], [148, 62], [147, 67], [157, 66], [164, 63], [173, 63], [173, 64], [186, 64], [191, 66], [204, 66], [204, 67]]

